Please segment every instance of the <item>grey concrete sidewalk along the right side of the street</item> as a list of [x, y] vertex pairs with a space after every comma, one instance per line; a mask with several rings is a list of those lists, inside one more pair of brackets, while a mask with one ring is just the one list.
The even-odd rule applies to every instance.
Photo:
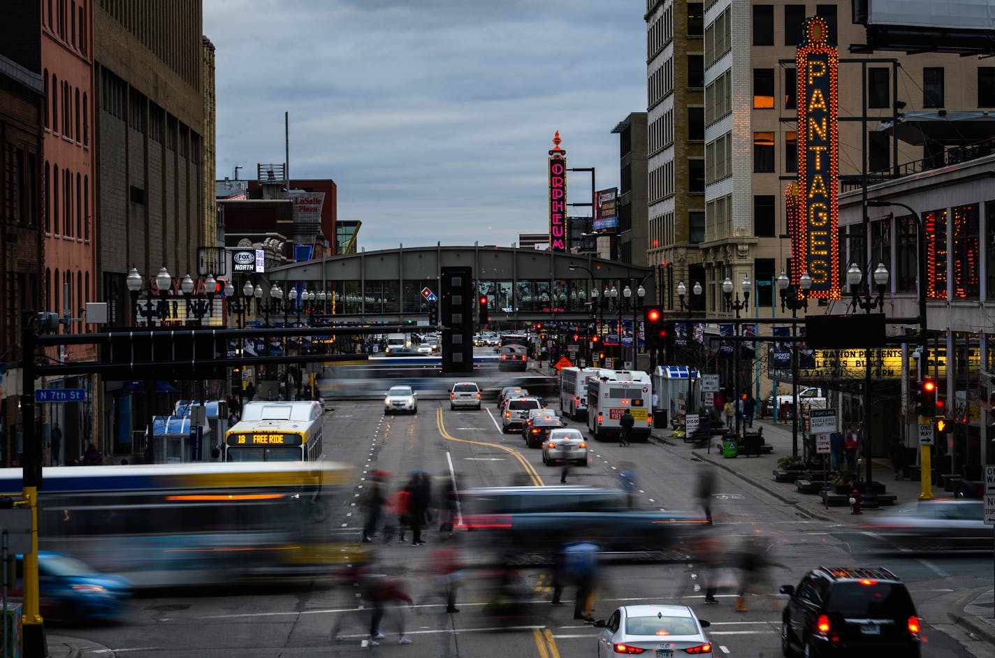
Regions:
[[[875, 516], [888, 515], [895, 510], [895, 506], [883, 505], [877, 509], [863, 509], [862, 514], [858, 516], [851, 513], [849, 505], [826, 507], [818, 494], [800, 493], [794, 482], [777, 482], [774, 479], [777, 460], [791, 454], [791, 423], [775, 423], [767, 418], [754, 419], [752, 431], [758, 429], [763, 430], [764, 442], [774, 448], [772, 453], [759, 457], [725, 458], [718, 448], [717, 437], [711, 439], [708, 447], [696, 447], [693, 443], [686, 443], [683, 438], [672, 437], [671, 430], [664, 428], [653, 430], [653, 440], [671, 446], [684, 446], [701, 461], [721, 468], [785, 504], [793, 505], [800, 513], [811, 518], [857, 527], [873, 523]], [[798, 440], [799, 453], [801, 453], [801, 435]], [[865, 468], [866, 466], [861, 465], [862, 476], [866, 472]], [[907, 479], [896, 480], [890, 459], [872, 460], [872, 474], [876, 482], [886, 486], [886, 493], [896, 495], [895, 505], [918, 500], [921, 484]], [[934, 498], [952, 495], [939, 488], [936, 483], [932, 484], [932, 494]], [[934, 626], [954, 624], [966, 634], [966, 641], [981, 640], [985, 646], [973, 647], [975, 655], [995, 656], [993, 600], [995, 600], [995, 589], [980, 587], [969, 591], [952, 592], [944, 596], [942, 601], [933, 599], [928, 606], [923, 606], [923, 608], [928, 607], [928, 611], [920, 609], [919, 612]], [[947, 621], [950, 623], [946, 623]]]

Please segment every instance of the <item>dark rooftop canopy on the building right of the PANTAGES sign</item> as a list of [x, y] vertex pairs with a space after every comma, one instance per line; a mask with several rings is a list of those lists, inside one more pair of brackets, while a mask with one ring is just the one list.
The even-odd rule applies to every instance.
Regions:
[[915, 146], [926, 142], [964, 146], [995, 137], [995, 113], [944, 109], [905, 112], [897, 121], [882, 121], [878, 130]]

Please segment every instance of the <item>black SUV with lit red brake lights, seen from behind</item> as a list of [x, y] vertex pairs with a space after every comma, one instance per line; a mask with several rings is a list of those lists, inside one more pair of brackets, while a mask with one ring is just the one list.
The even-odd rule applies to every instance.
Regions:
[[883, 567], [820, 567], [780, 587], [785, 656], [919, 655], [919, 618], [908, 590]]

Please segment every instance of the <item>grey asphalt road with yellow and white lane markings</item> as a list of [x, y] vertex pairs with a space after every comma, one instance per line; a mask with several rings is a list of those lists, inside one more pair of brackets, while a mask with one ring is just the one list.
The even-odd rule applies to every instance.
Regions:
[[[570, 423], [584, 428], [582, 423]], [[445, 401], [422, 401], [415, 415], [384, 415], [379, 401], [336, 400], [325, 414], [326, 452], [356, 465], [353, 488], [343, 493], [328, 523], [358, 539], [360, 512], [354, 504], [369, 471], [394, 474], [392, 488], [403, 486], [407, 473], [424, 469], [434, 478], [455, 473], [461, 486], [507, 485], [523, 478], [558, 486], [559, 470], [542, 465], [539, 450], [530, 450], [518, 433], [502, 434], [494, 404], [482, 411], [451, 411]], [[652, 443], [620, 447], [592, 443], [588, 468], [576, 468], [571, 483], [615, 486], [618, 469], [635, 464], [640, 473], [640, 502], [650, 508], [692, 509], [699, 469], [705, 468], [680, 446]], [[991, 578], [991, 558], [951, 559], [864, 557], [854, 555], [847, 528], [805, 518], [762, 490], [715, 473], [714, 533], [731, 551], [746, 538], [759, 538], [777, 563], [769, 592], [778, 584], [796, 584], [806, 569], [817, 566], [882, 565], [901, 576], [913, 599], [922, 604], [959, 586]], [[385, 574], [403, 576], [415, 605], [390, 610], [382, 624], [386, 638], [377, 648], [362, 648], [369, 610], [357, 609], [356, 591], [330, 580], [288, 583], [234, 590], [166, 592], [131, 601], [125, 618], [111, 626], [59, 629], [92, 643], [84, 655], [157, 658], [187, 656], [560, 656], [595, 655], [597, 629], [572, 618], [572, 590], [562, 607], [549, 605], [547, 568], [525, 569], [520, 578], [527, 602], [514, 614], [488, 611], [486, 581], [468, 573], [459, 594], [457, 614], [445, 602], [431, 576], [433, 552], [443, 546], [438, 532], [428, 544], [377, 546], [375, 560]], [[233, 557], [237, 559], [237, 557]], [[473, 556], [468, 556], [472, 561]], [[749, 611], [733, 609], [735, 592], [719, 591], [719, 604], [705, 606], [698, 589], [694, 560], [679, 563], [631, 562], [605, 568], [595, 616], [607, 617], [614, 607], [649, 602], [682, 602], [711, 621], [709, 636], [716, 656], [751, 658], [781, 655], [780, 607], [783, 597], [757, 596]], [[920, 610], [921, 612], [921, 610]], [[414, 644], [398, 646], [398, 622]], [[971, 656], [926, 620], [923, 656]], [[332, 637], [338, 627], [340, 641]], [[103, 648], [112, 653], [106, 653]]]

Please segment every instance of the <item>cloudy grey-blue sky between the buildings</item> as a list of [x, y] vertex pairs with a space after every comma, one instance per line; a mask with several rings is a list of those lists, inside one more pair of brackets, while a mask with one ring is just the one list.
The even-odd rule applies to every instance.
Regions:
[[[510, 246], [547, 231], [546, 158], [619, 184], [646, 109], [645, 0], [205, 0], [218, 178], [331, 178], [360, 247]], [[568, 202], [590, 174], [568, 175]], [[572, 213], [589, 215], [587, 208]]]

